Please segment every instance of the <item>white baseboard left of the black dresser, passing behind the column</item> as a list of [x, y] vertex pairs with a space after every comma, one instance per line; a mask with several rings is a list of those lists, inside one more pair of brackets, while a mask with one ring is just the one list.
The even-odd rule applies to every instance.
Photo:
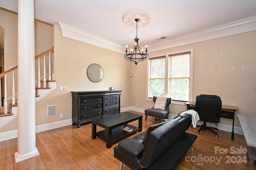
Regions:
[[[38, 125], [38, 126], [36, 126], [36, 133], [42, 132], [42, 131], [47, 131], [50, 129], [55, 129], [58, 127], [67, 126], [67, 125], [72, 125], [72, 119], [66, 119], [63, 121], [56, 121], [53, 123]], [[18, 130], [0, 133], [0, 141], [6, 141], [8, 139], [13, 139], [16, 137], [18, 137]]]

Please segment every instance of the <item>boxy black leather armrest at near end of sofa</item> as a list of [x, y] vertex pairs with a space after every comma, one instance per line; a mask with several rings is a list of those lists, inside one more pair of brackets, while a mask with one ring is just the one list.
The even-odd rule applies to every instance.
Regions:
[[133, 139], [125, 139], [118, 144], [118, 148], [128, 156], [138, 160], [144, 150], [144, 145]]

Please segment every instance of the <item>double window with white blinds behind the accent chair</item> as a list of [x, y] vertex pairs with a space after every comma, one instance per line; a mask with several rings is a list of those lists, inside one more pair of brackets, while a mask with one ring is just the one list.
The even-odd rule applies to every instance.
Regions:
[[150, 57], [147, 98], [168, 96], [172, 101], [192, 101], [192, 70], [193, 49], [169, 53], [161, 57]]

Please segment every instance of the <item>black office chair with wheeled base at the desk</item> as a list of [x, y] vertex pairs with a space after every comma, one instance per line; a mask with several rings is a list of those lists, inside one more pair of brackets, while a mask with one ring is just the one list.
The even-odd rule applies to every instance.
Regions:
[[209, 131], [212, 131], [216, 137], [218, 137], [218, 129], [215, 127], [206, 126], [206, 122], [212, 122], [215, 123], [215, 125], [218, 125], [217, 123], [220, 122], [221, 107], [222, 102], [219, 96], [204, 94], [196, 96], [195, 110], [199, 115], [200, 121], [204, 122], [204, 124], [201, 126], [197, 125], [198, 127], [201, 127], [198, 130], [198, 135], [200, 135], [200, 131], [202, 129], [204, 129], [204, 131], [208, 129]]

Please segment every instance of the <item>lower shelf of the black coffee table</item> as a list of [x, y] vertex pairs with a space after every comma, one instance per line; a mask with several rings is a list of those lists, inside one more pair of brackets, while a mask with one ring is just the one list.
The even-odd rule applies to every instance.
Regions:
[[[132, 128], [133, 130], [130, 132], [124, 131], [123, 128], [125, 126], [120, 126], [112, 129], [112, 140], [111, 142], [117, 142], [120, 141], [121, 139], [126, 138], [127, 136], [131, 135], [132, 133], [135, 133], [136, 131], [139, 131], [140, 129], [138, 127], [135, 127], [133, 125], [126, 124], [126, 126]], [[103, 131], [99, 131], [96, 133], [96, 136], [98, 136], [100, 139], [103, 139], [106, 141], [106, 129]]]

